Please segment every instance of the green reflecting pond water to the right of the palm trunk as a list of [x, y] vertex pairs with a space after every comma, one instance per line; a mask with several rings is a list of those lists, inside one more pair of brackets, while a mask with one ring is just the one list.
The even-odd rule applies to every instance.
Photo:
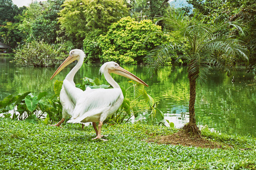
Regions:
[[218, 74], [197, 90], [196, 112], [199, 123], [224, 133], [256, 134], [255, 86], [249, 87], [250, 75], [242, 72], [232, 78]]

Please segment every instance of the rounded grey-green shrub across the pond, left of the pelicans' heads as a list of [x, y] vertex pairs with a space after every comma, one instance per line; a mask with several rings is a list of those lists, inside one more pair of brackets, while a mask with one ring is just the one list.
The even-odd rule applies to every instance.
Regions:
[[14, 50], [14, 60], [18, 65], [34, 67], [51, 67], [60, 59], [67, 57], [61, 52], [61, 46], [56, 49], [43, 41], [32, 41]]

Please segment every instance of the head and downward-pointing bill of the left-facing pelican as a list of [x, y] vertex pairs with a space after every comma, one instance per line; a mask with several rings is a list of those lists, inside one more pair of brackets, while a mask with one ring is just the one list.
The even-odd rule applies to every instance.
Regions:
[[52, 75], [51, 79], [53, 79], [57, 74], [60, 73], [61, 70], [63, 70], [67, 65], [69, 65], [73, 61], [80, 60], [80, 59], [82, 59], [82, 61], [84, 61], [84, 58], [85, 58], [85, 54], [84, 54], [84, 52], [82, 50], [80, 50], [80, 49], [73, 49], [73, 50], [71, 50], [69, 52], [68, 58], [65, 59], [65, 61], [63, 63], [61, 63], [59, 68]]

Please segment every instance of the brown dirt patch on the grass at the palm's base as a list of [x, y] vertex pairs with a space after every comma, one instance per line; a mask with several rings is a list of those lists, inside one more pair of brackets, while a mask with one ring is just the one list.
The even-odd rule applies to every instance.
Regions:
[[202, 138], [199, 135], [191, 135], [184, 130], [179, 130], [177, 133], [167, 136], [157, 137], [155, 139], [150, 139], [148, 142], [156, 142], [159, 144], [169, 144], [169, 145], [183, 145], [183, 146], [195, 146], [201, 148], [226, 148], [223, 143], [209, 141], [206, 138]]

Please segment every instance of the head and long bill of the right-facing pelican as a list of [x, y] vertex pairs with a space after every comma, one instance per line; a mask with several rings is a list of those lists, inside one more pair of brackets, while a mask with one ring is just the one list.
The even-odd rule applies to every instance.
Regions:
[[122, 76], [125, 76], [126, 78], [134, 80], [135, 82], [143, 84], [144, 86], [148, 87], [148, 85], [145, 82], [143, 82], [143, 80], [141, 80], [134, 74], [130, 73], [129, 71], [123, 69], [122, 67], [120, 67], [118, 65], [118, 63], [116, 63], [114, 61], [104, 63], [104, 65], [102, 65], [100, 68], [100, 72], [102, 74], [114, 73], [114, 74], [122, 75]]

